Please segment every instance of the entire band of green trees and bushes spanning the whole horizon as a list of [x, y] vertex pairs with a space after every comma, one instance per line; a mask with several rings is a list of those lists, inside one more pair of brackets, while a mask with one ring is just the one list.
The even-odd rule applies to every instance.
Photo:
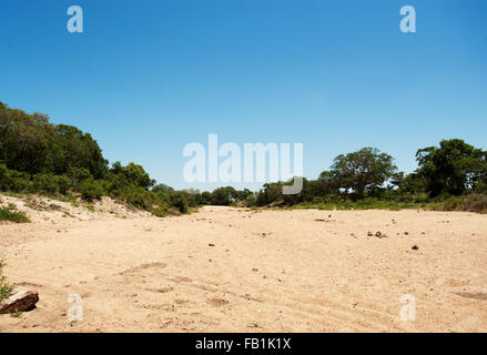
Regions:
[[[89, 133], [52, 124], [0, 102], [0, 190], [50, 196], [111, 196], [155, 215], [186, 213], [197, 205], [318, 209], [428, 207], [487, 212], [487, 152], [463, 140], [419, 149], [418, 168], [399, 172], [394, 159], [373, 148], [341, 154], [316, 180], [303, 181], [297, 195], [284, 195], [290, 182], [264, 184], [258, 192], [219, 187], [175, 191], [155, 184], [141, 165], [109, 165]], [[16, 219], [1, 210], [1, 219]], [[17, 216], [21, 219], [21, 216]]]

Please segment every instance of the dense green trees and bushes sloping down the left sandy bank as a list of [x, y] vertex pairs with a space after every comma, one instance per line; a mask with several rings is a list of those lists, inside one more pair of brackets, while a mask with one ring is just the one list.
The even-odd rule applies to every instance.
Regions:
[[[163, 216], [196, 206], [194, 193], [155, 185], [141, 165], [109, 166], [89, 133], [52, 124], [41, 113], [29, 114], [0, 102], [0, 190], [49, 196], [81, 196], [93, 201], [111, 196]], [[19, 219], [0, 212], [0, 220]]]

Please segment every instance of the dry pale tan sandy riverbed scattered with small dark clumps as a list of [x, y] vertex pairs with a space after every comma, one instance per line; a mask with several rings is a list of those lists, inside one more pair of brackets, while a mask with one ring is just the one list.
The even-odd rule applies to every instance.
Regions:
[[[0, 225], [6, 275], [40, 294], [37, 310], [0, 315], [0, 332], [487, 331], [487, 215], [204, 207], [40, 220]], [[68, 318], [72, 294], [82, 321]], [[414, 304], [415, 321], [402, 320]]]

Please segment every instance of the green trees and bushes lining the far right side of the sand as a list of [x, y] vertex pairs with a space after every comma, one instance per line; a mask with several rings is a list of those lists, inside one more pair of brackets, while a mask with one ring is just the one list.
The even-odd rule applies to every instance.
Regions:
[[[226, 201], [246, 206], [317, 209], [430, 209], [487, 212], [487, 152], [463, 140], [444, 140], [439, 146], [417, 151], [418, 168], [399, 172], [394, 159], [376, 149], [335, 158], [317, 180], [303, 181], [298, 195], [284, 195], [283, 182], [267, 183], [257, 193], [220, 189], [211, 203]], [[220, 203], [219, 203], [220, 204]]]

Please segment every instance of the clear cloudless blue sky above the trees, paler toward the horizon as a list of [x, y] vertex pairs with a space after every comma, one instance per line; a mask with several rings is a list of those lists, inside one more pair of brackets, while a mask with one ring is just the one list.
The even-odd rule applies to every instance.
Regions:
[[[72, 4], [83, 33], [67, 31]], [[399, 30], [406, 4], [416, 33]], [[487, 149], [486, 87], [485, 0], [0, 0], [0, 101], [174, 187], [209, 133], [302, 142], [311, 179], [363, 146], [406, 172], [442, 139]]]

